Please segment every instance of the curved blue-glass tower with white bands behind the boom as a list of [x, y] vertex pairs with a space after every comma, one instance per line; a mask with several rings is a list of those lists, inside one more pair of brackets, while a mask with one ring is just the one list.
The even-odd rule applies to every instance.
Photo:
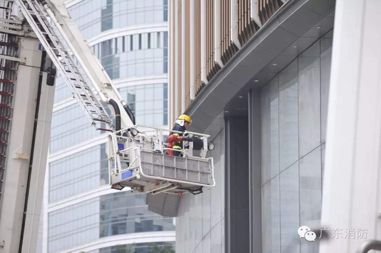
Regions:
[[[168, 126], [168, 1], [68, 0], [70, 16], [133, 111], [137, 124]], [[146, 196], [108, 185], [106, 135], [56, 80], [46, 170], [43, 252], [108, 253], [174, 245], [171, 217]], [[124, 251], [123, 251], [124, 252]]]

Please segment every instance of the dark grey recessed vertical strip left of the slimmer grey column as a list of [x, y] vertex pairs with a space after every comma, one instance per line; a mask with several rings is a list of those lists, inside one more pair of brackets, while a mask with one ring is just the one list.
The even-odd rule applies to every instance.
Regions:
[[225, 119], [225, 252], [249, 252], [247, 117]]

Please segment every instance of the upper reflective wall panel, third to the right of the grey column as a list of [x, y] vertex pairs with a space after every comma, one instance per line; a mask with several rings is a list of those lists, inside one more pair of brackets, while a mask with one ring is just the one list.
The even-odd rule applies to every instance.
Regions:
[[314, 43], [299, 64], [299, 158], [320, 145], [320, 45]]

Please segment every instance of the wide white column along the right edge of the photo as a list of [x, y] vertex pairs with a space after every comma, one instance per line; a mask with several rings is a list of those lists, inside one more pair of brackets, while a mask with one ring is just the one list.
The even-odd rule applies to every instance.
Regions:
[[[366, 239], [331, 239], [320, 253], [354, 253], [381, 240], [381, 1], [337, 0], [322, 226], [367, 229]], [[333, 231], [329, 231], [332, 235]]]

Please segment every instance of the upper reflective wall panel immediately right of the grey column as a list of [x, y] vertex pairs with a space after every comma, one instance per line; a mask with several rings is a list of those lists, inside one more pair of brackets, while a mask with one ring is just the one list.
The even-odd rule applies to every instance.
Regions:
[[261, 171], [262, 184], [279, 173], [278, 77], [261, 94]]

